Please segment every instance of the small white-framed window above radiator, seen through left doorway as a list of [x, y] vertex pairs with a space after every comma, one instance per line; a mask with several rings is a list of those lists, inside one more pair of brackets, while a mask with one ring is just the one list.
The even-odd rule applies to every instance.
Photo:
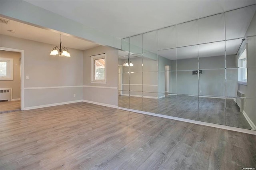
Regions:
[[0, 80], [13, 80], [13, 59], [0, 57]]

